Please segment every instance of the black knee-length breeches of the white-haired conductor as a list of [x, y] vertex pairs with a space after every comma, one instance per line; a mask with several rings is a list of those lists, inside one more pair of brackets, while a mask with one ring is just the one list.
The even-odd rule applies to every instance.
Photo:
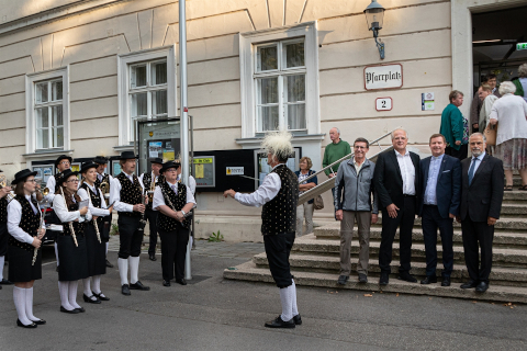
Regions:
[[269, 270], [277, 286], [288, 287], [293, 284], [293, 275], [289, 265], [289, 254], [294, 244], [293, 233], [268, 234], [264, 236]]

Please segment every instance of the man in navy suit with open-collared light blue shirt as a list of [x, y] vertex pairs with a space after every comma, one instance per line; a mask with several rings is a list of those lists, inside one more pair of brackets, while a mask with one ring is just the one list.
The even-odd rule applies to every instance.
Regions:
[[421, 284], [437, 283], [437, 228], [442, 244], [442, 282], [450, 286], [453, 268], [453, 218], [459, 214], [461, 200], [461, 162], [445, 155], [447, 140], [442, 134], [430, 136], [431, 156], [421, 161], [423, 196], [419, 215], [426, 250], [426, 278]]

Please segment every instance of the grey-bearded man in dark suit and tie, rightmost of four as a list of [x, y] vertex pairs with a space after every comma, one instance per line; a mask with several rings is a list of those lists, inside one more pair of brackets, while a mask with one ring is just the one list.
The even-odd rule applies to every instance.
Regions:
[[461, 288], [475, 287], [476, 292], [484, 293], [489, 288], [492, 268], [494, 225], [502, 211], [504, 172], [502, 160], [485, 152], [483, 134], [472, 134], [469, 147], [472, 157], [461, 161], [461, 212], [456, 217], [461, 223], [464, 262], [470, 276]]

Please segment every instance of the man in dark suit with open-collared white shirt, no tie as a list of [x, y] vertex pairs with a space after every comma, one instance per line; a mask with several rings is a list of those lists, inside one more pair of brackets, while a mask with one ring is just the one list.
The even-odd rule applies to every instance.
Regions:
[[412, 258], [412, 229], [418, 211], [419, 199], [419, 156], [406, 150], [408, 136], [406, 131], [392, 133], [394, 150], [379, 155], [373, 174], [373, 184], [382, 208], [381, 249], [379, 267], [380, 285], [386, 285], [391, 272], [392, 247], [395, 231], [400, 227], [399, 279], [416, 283], [410, 274]]

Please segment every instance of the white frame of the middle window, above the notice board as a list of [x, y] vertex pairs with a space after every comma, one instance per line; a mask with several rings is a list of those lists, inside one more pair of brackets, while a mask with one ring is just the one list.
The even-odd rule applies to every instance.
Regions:
[[[130, 70], [131, 66], [141, 63], [154, 63], [154, 61], [167, 61], [167, 103], [168, 117], [175, 117], [177, 115], [177, 67], [176, 67], [176, 47], [175, 45], [164, 46], [156, 49], [146, 49], [130, 54], [117, 55], [117, 90], [119, 90], [119, 146], [130, 146], [134, 141], [134, 135], [132, 135], [132, 117], [131, 105], [128, 97], [131, 92], [139, 92], [143, 89], [130, 89]], [[150, 72], [147, 69], [147, 76]], [[157, 90], [156, 88], [145, 89], [144, 91]], [[150, 97], [150, 94], [148, 94]], [[152, 103], [148, 103], [152, 106]]]

